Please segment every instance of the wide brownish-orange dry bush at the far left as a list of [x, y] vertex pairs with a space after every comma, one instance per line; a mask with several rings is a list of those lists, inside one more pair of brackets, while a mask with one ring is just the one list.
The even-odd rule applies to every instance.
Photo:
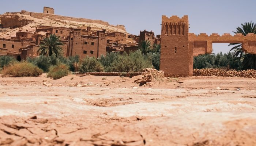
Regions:
[[27, 62], [17, 62], [9, 66], [5, 66], [2, 70], [3, 76], [12, 77], [38, 77], [43, 72], [37, 66]]

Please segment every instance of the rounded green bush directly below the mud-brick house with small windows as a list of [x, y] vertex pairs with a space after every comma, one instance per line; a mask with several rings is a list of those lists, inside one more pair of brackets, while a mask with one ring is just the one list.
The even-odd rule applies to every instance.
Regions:
[[95, 57], [86, 57], [79, 66], [80, 73], [103, 72], [103, 66]]

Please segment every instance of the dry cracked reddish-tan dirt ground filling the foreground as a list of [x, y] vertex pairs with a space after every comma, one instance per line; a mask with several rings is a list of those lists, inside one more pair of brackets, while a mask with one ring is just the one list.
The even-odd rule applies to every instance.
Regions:
[[255, 78], [138, 77], [1, 77], [0, 145], [256, 145]]

